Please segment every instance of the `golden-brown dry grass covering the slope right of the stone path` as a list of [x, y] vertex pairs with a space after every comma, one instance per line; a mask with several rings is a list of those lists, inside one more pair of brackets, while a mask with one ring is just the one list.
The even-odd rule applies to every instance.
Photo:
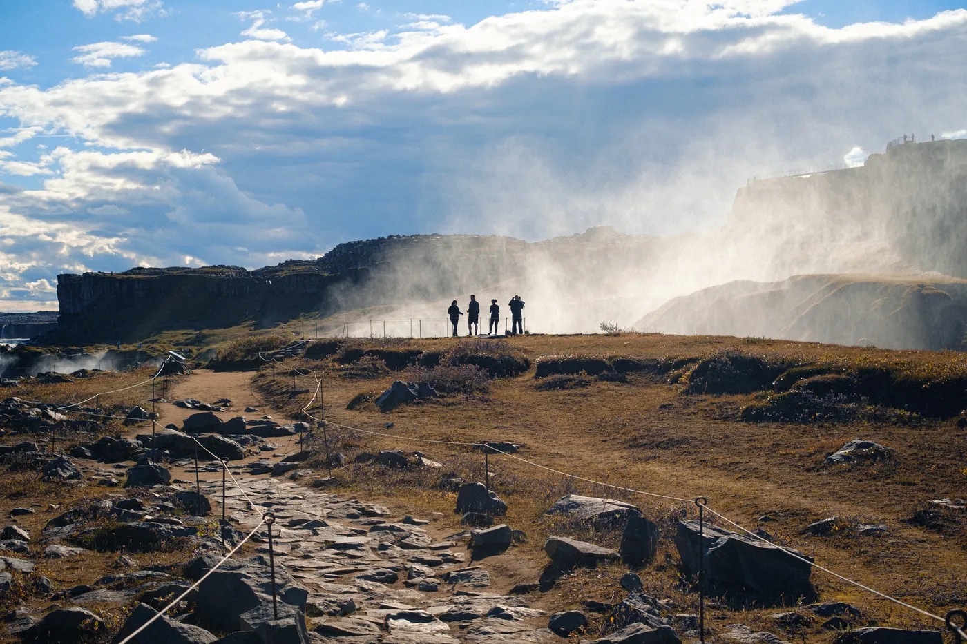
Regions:
[[[703, 494], [712, 507], [739, 520], [749, 528], [759, 527], [759, 516], [775, 520], [763, 523], [770, 534], [812, 554], [817, 561], [847, 576], [901, 595], [905, 600], [943, 614], [956, 607], [961, 594], [952, 579], [967, 571], [963, 559], [962, 528], [957, 536], [923, 526], [904, 523], [930, 499], [963, 496], [967, 468], [958, 457], [958, 445], [967, 431], [952, 421], [918, 418], [901, 422], [895, 417], [870, 416], [842, 423], [756, 423], [740, 422], [740, 410], [756, 402], [758, 393], [687, 395], [691, 369], [701, 361], [723, 353], [738, 353], [784, 365], [820, 365], [824, 369], [853, 370], [866, 366], [886, 369], [902, 377], [955, 380], [967, 373], [967, 361], [960, 354], [892, 352], [873, 348], [763, 340], [748, 342], [731, 337], [671, 337], [649, 334], [575, 337], [512, 337], [513, 350], [528, 356], [534, 364], [542, 356], [622, 356], [641, 364], [658, 364], [660, 373], [628, 372], [628, 383], [592, 381], [573, 390], [537, 391], [529, 376], [498, 379], [485, 398], [459, 398], [454, 404], [411, 405], [392, 414], [380, 414], [363, 405], [346, 411], [346, 403], [366, 392], [382, 391], [392, 377], [366, 383], [347, 382], [327, 371], [325, 362], [309, 362], [323, 376], [326, 418], [338, 423], [382, 431], [392, 420], [392, 433], [405, 436], [454, 440], [508, 440], [525, 445], [520, 453], [544, 465], [621, 486], [654, 491], [682, 498]], [[411, 340], [406, 348], [444, 353], [453, 340]], [[680, 382], [670, 384], [679, 371]], [[308, 389], [307, 384], [301, 386]], [[291, 410], [308, 396], [293, 396], [285, 409]], [[823, 464], [831, 454], [853, 438], [868, 438], [894, 447], [895, 462], [855, 468], [830, 468]], [[343, 437], [345, 440], [346, 437]], [[445, 464], [444, 471], [464, 478], [482, 479], [480, 454], [445, 446], [405, 443], [358, 435], [348, 437], [355, 447], [348, 455], [379, 449], [422, 450]], [[555, 531], [564, 530], [595, 542], [615, 544], [614, 535], [588, 535], [578, 526], [560, 525], [543, 512], [567, 491], [626, 498], [642, 506], [646, 514], [668, 516], [688, 512], [687, 504], [676, 504], [641, 495], [622, 494], [607, 488], [595, 489], [527, 466], [499, 454], [491, 457], [492, 486], [508, 501], [507, 521], [523, 529], [529, 541], [514, 546], [540, 571], [546, 562], [540, 548]], [[439, 472], [383, 470], [371, 465], [354, 465], [339, 476], [344, 490], [366, 498], [382, 498], [396, 505], [423, 508], [426, 512], [452, 512], [454, 494], [435, 486]], [[566, 491], [567, 490], [567, 491]], [[863, 517], [885, 523], [890, 532], [879, 537], [806, 537], [801, 530], [811, 521], [837, 514]], [[851, 519], [852, 520], [852, 519]], [[455, 519], [454, 519], [455, 521]], [[455, 526], [454, 525], [454, 529]], [[663, 537], [664, 552], [677, 559], [674, 545]], [[663, 555], [643, 573], [645, 583], [680, 601], [690, 609], [691, 595], [676, 596], [681, 571], [665, 564]], [[621, 569], [621, 567], [617, 567]], [[613, 595], [619, 572], [575, 571], [559, 579], [542, 605], [560, 609], [581, 599]], [[535, 578], [524, 579], [536, 581]], [[814, 582], [823, 600], [846, 600], [865, 611], [863, 624], [930, 626], [915, 614], [894, 610], [882, 600], [870, 600], [862, 591], [822, 572]], [[775, 608], [747, 602], [738, 613], [722, 604], [719, 613], [728, 622], [746, 623], [753, 628], [777, 631], [770, 615]], [[808, 641], [827, 641], [817, 629], [800, 633]], [[791, 636], [791, 635], [790, 635]]]

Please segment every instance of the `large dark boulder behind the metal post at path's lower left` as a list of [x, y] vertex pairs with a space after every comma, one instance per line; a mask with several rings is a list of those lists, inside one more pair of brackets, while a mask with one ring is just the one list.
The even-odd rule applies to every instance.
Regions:
[[[229, 560], [198, 586], [195, 612], [201, 623], [232, 632], [254, 630], [272, 619], [272, 582], [268, 558]], [[308, 592], [276, 562], [278, 616], [306, 614]]]

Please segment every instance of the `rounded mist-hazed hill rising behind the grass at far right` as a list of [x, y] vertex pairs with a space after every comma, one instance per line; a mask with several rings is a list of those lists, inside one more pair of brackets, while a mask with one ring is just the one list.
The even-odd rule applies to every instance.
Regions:
[[702, 289], [659, 307], [634, 328], [959, 350], [965, 322], [967, 279], [812, 275]]

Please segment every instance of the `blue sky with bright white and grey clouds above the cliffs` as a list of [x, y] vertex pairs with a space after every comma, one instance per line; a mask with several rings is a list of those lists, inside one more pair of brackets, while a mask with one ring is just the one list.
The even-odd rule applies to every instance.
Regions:
[[4, 0], [0, 310], [56, 276], [429, 232], [674, 235], [967, 134], [933, 0]]

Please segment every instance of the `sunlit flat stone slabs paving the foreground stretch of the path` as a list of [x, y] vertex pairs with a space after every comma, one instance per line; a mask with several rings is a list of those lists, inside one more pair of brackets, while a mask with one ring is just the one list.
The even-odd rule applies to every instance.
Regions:
[[[240, 483], [254, 509], [238, 488], [228, 490], [226, 509], [246, 533], [260, 512], [275, 514], [276, 561], [309, 590], [307, 626], [316, 641], [561, 640], [526, 596], [492, 591], [485, 560], [467, 565], [466, 534], [436, 541], [427, 519], [287, 481]], [[220, 483], [203, 489], [220, 498]], [[257, 553], [268, 553], [265, 526], [253, 540]]]

